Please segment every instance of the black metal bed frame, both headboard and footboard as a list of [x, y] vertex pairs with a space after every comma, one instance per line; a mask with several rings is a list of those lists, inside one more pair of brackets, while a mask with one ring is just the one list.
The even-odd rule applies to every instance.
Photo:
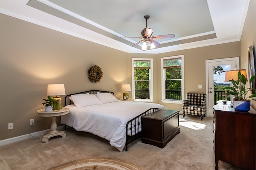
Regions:
[[[108, 91], [102, 91], [102, 90], [89, 90], [89, 91], [84, 91], [84, 92], [78, 92], [78, 93], [74, 93], [74, 94], [86, 94], [86, 93], [89, 93], [89, 94], [96, 94], [97, 92], [100, 92], [100, 93], [110, 93], [110, 94], [113, 94], [114, 96], [114, 92], [108, 92]], [[68, 94], [67, 96], [65, 96], [65, 106], [67, 105], [70, 105], [70, 104], [74, 104], [70, 99], [69, 97], [71, 95], [74, 95], [74, 94]], [[148, 109], [146, 111], [144, 111], [143, 113], [141, 113], [140, 115], [134, 117], [133, 119], [130, 119], [127, 124], [126, 124], [126, 143], [125, 143], [125, 151], [128, 151], [128, 144], [129, 143], [132, 143], [133, 141], [139, 139], [141, 137], [141, 129], [139, 129], [138, 132], [136, 132], [136, 130], [134, 130], [134, 133], [132, 133], [132, 129], [136, 129], [136, 127], [140, 127], [140, 124], [141, 124], [141, 119], [140, 117], [144, 116], [144, 115], [149, 115], [149, 114], [152, 114], [154, 113], [155, 111], [158, 111], [160, 109], [166, 109], [165, 107], [160, 107], [160, 108], [151, 108], [151, 109]], [[138, 121], [136, 123], [136, 121]], [[128, 125], [130, 125], [130, 129], [128, 129]], [[66, 129], [66, 125], [65, 125], [65, 129]], [[128, 130], [130, 131], [130, 136], [128, 135]]]

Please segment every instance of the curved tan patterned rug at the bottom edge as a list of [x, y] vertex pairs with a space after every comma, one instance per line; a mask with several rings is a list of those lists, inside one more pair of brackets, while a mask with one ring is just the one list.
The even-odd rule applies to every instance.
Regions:
[[84, 158], [48, 170], [143, 170], [130, 162], [114, 158]]

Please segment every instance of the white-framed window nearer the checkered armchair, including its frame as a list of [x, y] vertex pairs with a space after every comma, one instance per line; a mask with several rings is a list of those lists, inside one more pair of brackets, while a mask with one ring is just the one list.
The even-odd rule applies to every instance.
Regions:
[[182, 103], [184, 100], [184, 55], [164, 57], [162, 65], [162, 102]]

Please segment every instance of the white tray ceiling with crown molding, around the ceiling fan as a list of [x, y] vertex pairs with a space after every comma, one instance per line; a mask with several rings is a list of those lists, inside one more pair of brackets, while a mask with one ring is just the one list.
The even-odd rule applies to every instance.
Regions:
[[[240, 41], [250, 0], [0, 0], [0, 12], [127, 53], [165, 53]], [[161, 45], [142, 51], [146, 27]], [[86, 48], [86, 47], [85, 47]], [[150, 48], [148, 48], [150, 49]]]

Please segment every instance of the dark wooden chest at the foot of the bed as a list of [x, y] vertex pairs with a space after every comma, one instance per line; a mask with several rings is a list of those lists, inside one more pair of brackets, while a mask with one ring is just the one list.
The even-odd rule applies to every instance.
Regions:
[[142, 143], [164, 148], [180, 133], [178, 110], [162, 109], [141, 117]]

